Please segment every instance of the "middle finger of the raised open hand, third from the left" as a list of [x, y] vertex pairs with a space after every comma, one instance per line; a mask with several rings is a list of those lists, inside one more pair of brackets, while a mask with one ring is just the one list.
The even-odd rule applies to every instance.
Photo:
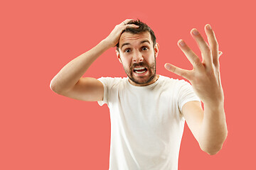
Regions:
[[196, 30], [196, 28], [191, 30], [191, 35], [196, 40], [196, 43], [201, 50], [203, 62], [208, 66], [211, 66], [213, 64], [213, 57], [209, 45], [205, 40], [203, 40], [202, 35], [198, 32], [198, 30]]

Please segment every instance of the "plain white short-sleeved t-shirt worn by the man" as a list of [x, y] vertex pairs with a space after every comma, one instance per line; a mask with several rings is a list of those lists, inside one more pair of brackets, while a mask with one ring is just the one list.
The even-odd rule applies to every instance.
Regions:
[[191, 84], [159, 76], [149, 86], [102, 77], [110, 108], [110, 170], [177, 170], [185, 119], [182, 106], [200, 101]]

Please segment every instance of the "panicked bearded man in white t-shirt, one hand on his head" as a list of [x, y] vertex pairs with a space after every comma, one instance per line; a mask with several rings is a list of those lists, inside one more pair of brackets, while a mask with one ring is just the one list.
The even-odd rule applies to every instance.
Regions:
[[[50, 82], [50, 89], [57, 94], [98, 101], [100, 106], [107, 103], [110, 169], [178, 169], [185, 120], [204, 152], [212, 155], [220, 151], [228, 133], [218, 62], [221, 54], [210, 25], [205, 30], [209, 45], [196, 29], [191, 30], [203, 62], [179, 40], [178, 47], [193, 70], [165, 64], [191, 84], [156, 74], [159, 44], [154, 32], [145, 23], [131, 19], [115, 26], [107, 38], [65, 65]], [[82, 78], [97, 57], [115, 46], [127, 78]]]

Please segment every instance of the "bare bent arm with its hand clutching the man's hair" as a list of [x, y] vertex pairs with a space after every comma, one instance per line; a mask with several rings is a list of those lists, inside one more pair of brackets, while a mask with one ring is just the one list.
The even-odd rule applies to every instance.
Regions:
[[50, 89], [57, 94], [82, 101], [102, 101], [104, 94], [102, 83], [95, 78], [82, 78], [82, 75], [85, 74], [97, 57], [100, 57], [100, 55], [110, 47], [117, 45], [122, 30], [127, 27], [137, 28], [137, 26], [133, 24], [124, 24], [129, 21], [131, 21], [131, 19], [125, 20], [115, 26], [114, 30], [112, 30], [107, 38], [102, 40], [91, 50], [66, 64], [50, 81]]

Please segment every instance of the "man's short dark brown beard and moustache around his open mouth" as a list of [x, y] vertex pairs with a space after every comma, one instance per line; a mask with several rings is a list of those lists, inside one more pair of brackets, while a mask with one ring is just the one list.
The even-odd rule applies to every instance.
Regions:
[[[146, 79], [140, 79], [140, 77], [134, 77], [134, 68], [137, 66], [146, 67], [147, 72], [149, 72], [149, 76], [147, 76]], [[124, 67], [124, 65], [123, 65]], [[147, 64], [146, 62], [139, 62], [134, 63], [129, 67], [129, 69], [124, 68], [124, 72], [127, 74], [129, 79], [133, 81], [135, 84], [144, 85], [148, 84], [150, 81], [152, 81], [156, 77], [156, 56], [154, 56], [154, 62], [152, 64]]]

